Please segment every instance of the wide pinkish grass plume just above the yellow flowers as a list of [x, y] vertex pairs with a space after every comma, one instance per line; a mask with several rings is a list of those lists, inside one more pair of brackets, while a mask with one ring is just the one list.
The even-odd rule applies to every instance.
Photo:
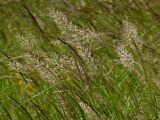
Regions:
[[39, 77], [48, 82], [56, 82], [56, 76], [59, 76], [62, 72], [74, 71], [75, 63], [74, 59], [67, 55], [57, 55], [54, 53], [47, 53], [43, 51], [34, 51], [31, 53], [26, 53], [22, 56], [24, 62], [18, 62], [14, 60], [9, 66], [22, 72], [25, 76], [32, 76], [33, 74], [38, 74]]

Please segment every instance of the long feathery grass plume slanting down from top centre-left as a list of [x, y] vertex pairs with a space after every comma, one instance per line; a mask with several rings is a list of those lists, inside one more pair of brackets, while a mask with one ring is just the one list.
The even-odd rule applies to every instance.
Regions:
[[[91, 51], [96, 49], [93, 41], [99, 41], [102, 34], [89, 29], [79, 28], [68, 20], [68, 18], [60, 11], [49, 9], [49, 17], [57, 24], [61, 30], [61, 36], [64, 40], [74, 46], [80, 56], [87, 62], [91, 63]], [[53, 43], [54, 44], [54, 43]]]

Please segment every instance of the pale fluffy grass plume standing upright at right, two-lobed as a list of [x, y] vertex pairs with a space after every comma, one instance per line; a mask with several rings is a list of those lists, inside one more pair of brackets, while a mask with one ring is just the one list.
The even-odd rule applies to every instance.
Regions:
[[122, 41], [116, 46], [116, 52], [120, 64], [129, 70], [133, 70], [135, 60], [133, 55], [127, 51], [127, 48], [134, 49], [136, 46], [138, 49], [142, 49], [143, 40], [138, 35], [137, 28], [133, 23], [124, 20], [122, 25]]

